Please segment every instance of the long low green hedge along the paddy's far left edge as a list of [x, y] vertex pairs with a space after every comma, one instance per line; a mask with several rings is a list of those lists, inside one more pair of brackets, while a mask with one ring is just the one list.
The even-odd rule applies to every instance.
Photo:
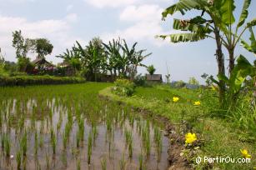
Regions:
[[85, 82], [83, 77], [14, 76], [1, 77], [0, 86], [27, 86], [47, 84], [68, 84]]

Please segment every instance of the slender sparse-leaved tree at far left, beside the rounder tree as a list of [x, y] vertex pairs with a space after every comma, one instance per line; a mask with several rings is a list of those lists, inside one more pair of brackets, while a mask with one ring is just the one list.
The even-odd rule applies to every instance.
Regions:
[[26, 57], [31, 48], [30, 39], [24, 39], [22, 31], [13, 32], [13, 47], [16, 48], [16, 57]]

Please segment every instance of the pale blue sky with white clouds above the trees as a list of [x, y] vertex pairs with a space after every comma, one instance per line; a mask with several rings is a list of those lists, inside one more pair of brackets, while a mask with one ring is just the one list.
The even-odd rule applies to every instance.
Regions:
[[[164, 77], [169, 72], [171, 81], [188, 82], [189, 77], [196, 77], [203, 83], [203, 73], [216, 75], [218, 70], [212, 39], [173, 44], [155, 37], [175, 32], [173, 18], [193, 18], [196, 14], [178, 13], [162, 21], [161, 13], [174, 2], [177, 0], [0, 0], [0, 47], [5, 59], [15, 62], [12, 32], [21, 30], [23, 37], [48, 38], [54, 48], [47, 59], [58, 63], [62, 59], [55, 56], [72, 47], [75, 41], [86, 46], [93, 37], [100, 37], [103, 42], [121, 37], [130, 46], [138, 42], [138, 49], [153, 52], [143, 63], [153, 64], [155, 73]], [[243, 1], [235, 2], [238, 18]], [[248, 21], [256, 17], [255, 8], [256, 1], [252, 0]], [[243, 38], [248, 40], [247, 32]], [[250, 62], [255, 59], [243, 47], [237, 47], [235, 55], [239, 54]], [[29, 57], [33, 60], [35, 55], [30, 53]], [[145, 73], [146, 69], [139, 68], [139, 72]]]

